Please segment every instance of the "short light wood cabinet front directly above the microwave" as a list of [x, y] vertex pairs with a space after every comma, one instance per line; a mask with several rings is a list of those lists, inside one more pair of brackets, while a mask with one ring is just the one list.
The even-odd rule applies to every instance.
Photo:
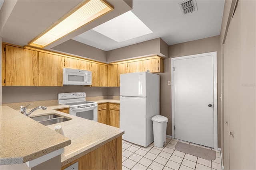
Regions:
[[91, 63], [79, 59], [72, 59], [65, 57], [65, 68], [73, 68], [73, 69], [79, 69], [79, 70], [91, 70]]

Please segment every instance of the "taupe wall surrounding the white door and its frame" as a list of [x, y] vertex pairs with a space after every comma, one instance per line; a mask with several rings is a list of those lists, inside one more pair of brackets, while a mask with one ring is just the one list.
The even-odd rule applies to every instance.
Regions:
[[[220, 36], [214, 36], [186, 43], [180, 43], [169, 46], [169, 57], [164, 59], [164, 73], [160, 73], [160, 114], [168, 117], [167, 135], [172, 135], [172, 113], [171, 113], [171, 86], [167, 85], [167, 81], [171, 80], [171, 58], [182, 57], [186, 55], [194, 55], [200, 53], [208, 53], [217, 51], [217, 72], [218, 72], [218, 99], [220, 96]], [[218, 100], [218, 105], [220, 101]], [[218, 129], [220, 125], [218, 107]], [[218, 145], [220, 144], [220, 131], [218, 131]]]

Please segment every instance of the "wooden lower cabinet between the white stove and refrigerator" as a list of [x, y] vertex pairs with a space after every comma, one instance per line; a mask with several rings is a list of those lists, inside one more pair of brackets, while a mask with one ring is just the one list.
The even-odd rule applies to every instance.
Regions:
[[98, 122], [119, 128], [120, 111], [119, 104], [98, 104]]

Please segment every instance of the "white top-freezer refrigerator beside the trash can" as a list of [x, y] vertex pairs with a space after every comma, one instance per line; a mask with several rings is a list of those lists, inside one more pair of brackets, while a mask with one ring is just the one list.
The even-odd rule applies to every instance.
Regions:
[[159, 115], [160, 76], [148, 72], [120, 74], [122, 139], [148, 147], [153, 139], [151, 118]]

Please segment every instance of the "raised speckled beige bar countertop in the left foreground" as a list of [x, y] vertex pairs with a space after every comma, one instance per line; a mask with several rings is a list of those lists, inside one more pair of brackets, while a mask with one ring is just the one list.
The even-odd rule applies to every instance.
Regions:
[[70, 145], [70, 139], [0, 106], [0, 164], [21, 164]]

